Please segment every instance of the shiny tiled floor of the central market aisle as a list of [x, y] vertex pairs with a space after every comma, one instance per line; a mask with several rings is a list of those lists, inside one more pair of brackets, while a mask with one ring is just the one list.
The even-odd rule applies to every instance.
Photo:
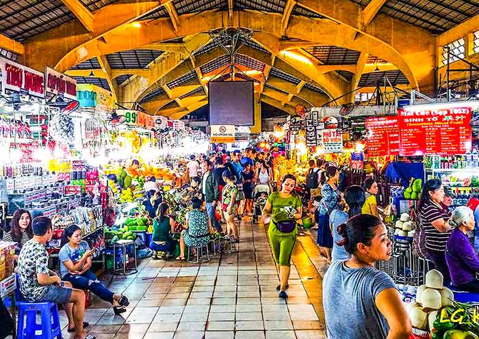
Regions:
[[[86, 312], [90, 333], [98, 339], [326, 338], [322, 278], [307, 254], [315, 246], [309, 236], [296, 246], [287, 302], [276, 291], [279, 278], [263, 226], [244, 221], [240, 236], [239, 252], [199, 267], [148, 259], [138, 274], [115, 277], [110, 287], [124, 290], [131, 305], [114, 316], [106, 303], [94, 301]], [[70, 338], [66, 330], [64, 338]]]

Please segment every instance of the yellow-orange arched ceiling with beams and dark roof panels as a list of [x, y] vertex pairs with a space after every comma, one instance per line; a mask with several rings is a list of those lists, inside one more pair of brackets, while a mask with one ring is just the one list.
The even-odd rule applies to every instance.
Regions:
[[479, 27], [478, 13], [479, 0], [7, 0], [0, 54], [179, 116], [207, 102], [207, 81], [226, 79], [229, 57], [208, 32], [243, 27], [253, 39], [236, 66], [259, 100], [288, 111], [354, 100], [385, 77], [430, 89], [437, 42]]

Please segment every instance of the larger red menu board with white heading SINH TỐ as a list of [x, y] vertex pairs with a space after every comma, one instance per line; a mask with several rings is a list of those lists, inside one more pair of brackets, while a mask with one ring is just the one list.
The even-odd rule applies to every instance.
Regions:
[[471, 148], [471, 107], [409, 107], [398, 111], [400, 154], [464, 154]]

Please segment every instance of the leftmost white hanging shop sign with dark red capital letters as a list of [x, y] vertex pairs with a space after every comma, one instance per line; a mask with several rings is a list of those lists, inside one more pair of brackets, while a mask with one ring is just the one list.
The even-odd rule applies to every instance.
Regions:
[[44, 74], [0, 57], [0, 82], [4, 94], [24, 90], [43, 98]]

